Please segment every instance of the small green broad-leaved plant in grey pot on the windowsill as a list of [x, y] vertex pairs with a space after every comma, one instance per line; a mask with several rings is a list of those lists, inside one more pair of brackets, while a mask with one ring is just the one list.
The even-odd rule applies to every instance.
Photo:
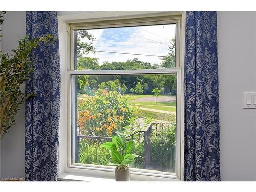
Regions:
[[116, 181], [129, 181], [130, 170], [128, 165], [135, 162], [135, 158], [140, 156], [131, 153], [135, 145], [134, 140], [127, 141], [124, 134], [120, 132], [115, 133], [117, 136], [113, 136], [111, 142], [105, 142], [100, 146], [107, 148], [110, 152], [111, 159], [106, 165], [116, 166]]

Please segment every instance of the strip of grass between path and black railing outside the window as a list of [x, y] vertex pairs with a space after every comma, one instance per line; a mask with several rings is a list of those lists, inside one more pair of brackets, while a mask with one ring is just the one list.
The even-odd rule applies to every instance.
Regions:
[[145, 111], [138, 109], [140, 116], [147, 117], [147, 118], [153, 118], [156, 120], [164, 120], [164, 121], [169, 121], [172, 123], [175, 123], [176, 116], [171, 115], [171, 114], [165, 114], [165, 113], [157, 113], [157, 112], [152, 112], [152, 111]]

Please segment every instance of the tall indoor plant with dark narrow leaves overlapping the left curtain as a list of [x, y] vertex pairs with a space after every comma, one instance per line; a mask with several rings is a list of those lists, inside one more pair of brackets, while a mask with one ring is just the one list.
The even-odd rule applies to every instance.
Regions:
[[[5, 14], [0, 12], [0, 24], [3, 23]], [[45, 35], [40, 38], [29, 39], [29, 36], [18, 41], [18, 48], [13, 51], [13, 56], [0, 52], [0, 139], [4, 137], [15, 123], [15, 116], [24, 102], [20, 86], [29, 80], [32, 72], [31, 51], [41, 42], [50, 43], [53, 36]], [[36, 96], [34, 93], [27, 95], [26, 99]]]

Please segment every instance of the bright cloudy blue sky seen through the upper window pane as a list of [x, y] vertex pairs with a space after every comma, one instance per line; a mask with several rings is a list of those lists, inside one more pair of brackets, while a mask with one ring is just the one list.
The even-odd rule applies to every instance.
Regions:
[[[118, 27], [105, 29], [88, 30], [94, 37], [93, 46], [95, 54], [84, 55], [87, 57], [99, 58], [99, 65], [105, 61], [108, 62], [126, 62], [138, 58], [140, 61], [160, 64], [162, 57], [167, 56], [172, 38], [175, 38], [175, 24], [154, 25], [154, 26], [136, 26], [136, 27]], [[82, 41], [87, 41], [87, 38]], [[135, 53], [155, 56], [141, 56], [131, 54], [105, 53], [121, 52]]]

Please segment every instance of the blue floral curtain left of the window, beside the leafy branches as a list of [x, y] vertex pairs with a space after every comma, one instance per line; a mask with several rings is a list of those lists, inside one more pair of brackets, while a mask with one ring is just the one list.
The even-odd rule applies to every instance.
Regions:
[[57, 41], [32, 51], [34, 71], [26, 82], [25, 176], [27, 181], [56, 181], [60, 115], [60, 63], [57, 13], [27, 11], [26, 34], [54, 35]]

